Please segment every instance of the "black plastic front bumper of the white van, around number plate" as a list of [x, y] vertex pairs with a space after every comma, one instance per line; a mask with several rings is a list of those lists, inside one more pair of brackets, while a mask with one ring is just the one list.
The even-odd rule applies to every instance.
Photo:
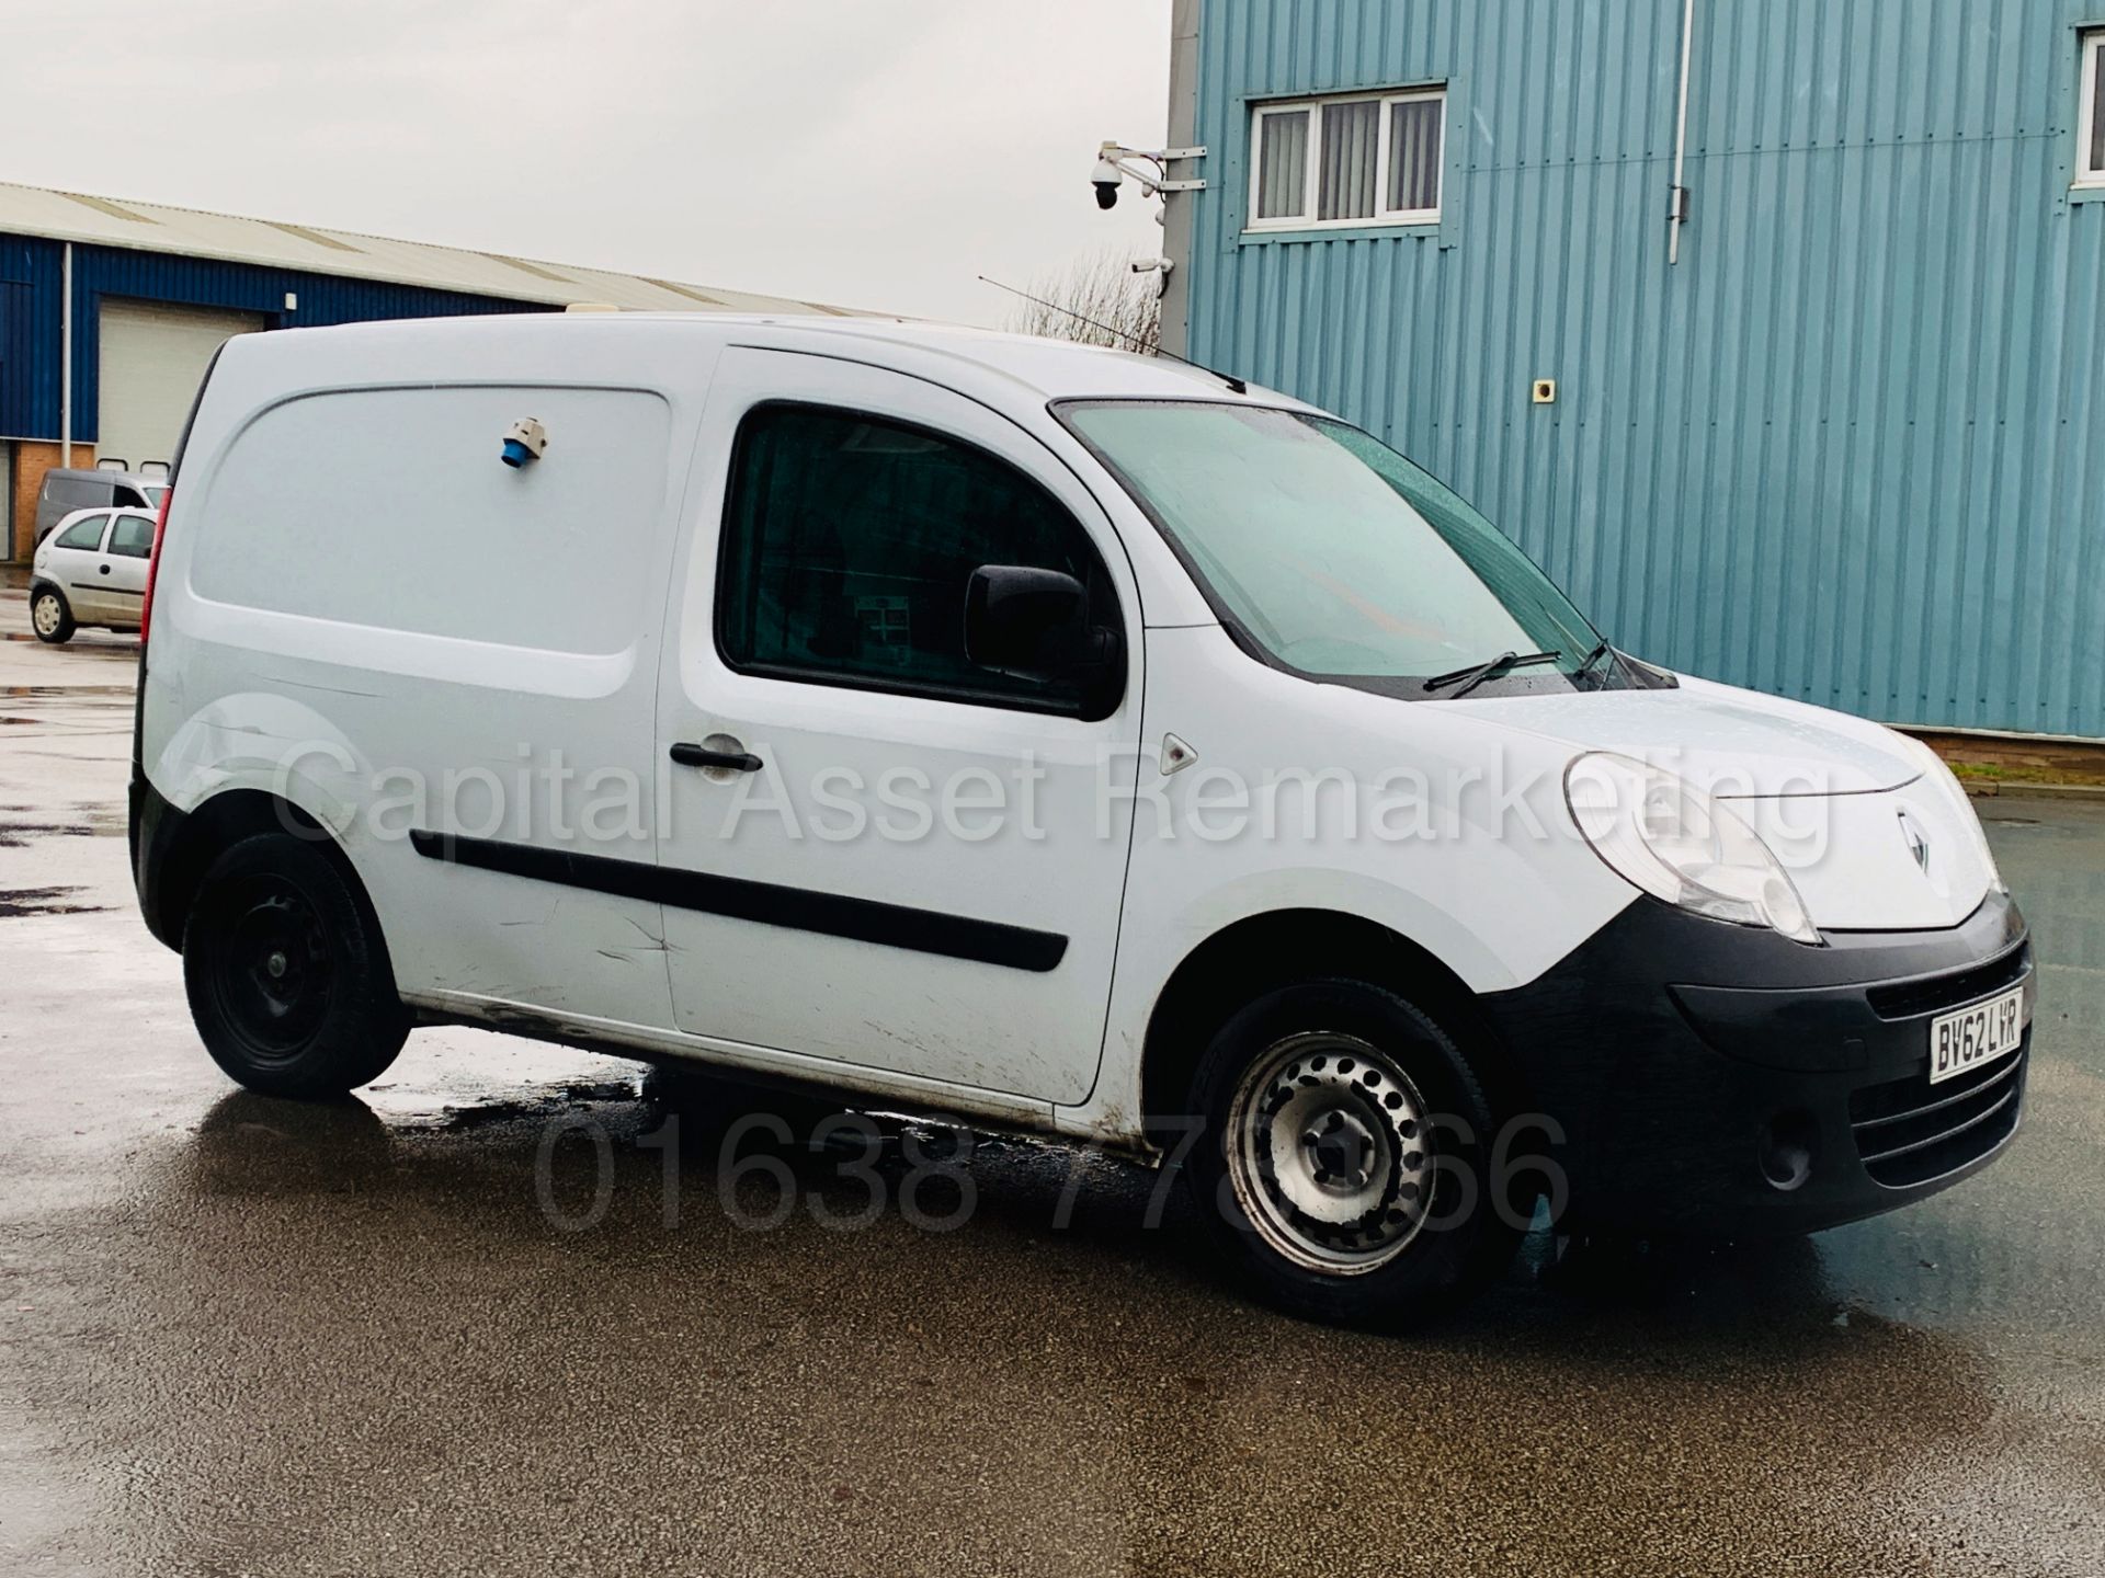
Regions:
[[[2014, 1054], [1928, 1084], [1937, 1014], [2025, 987]], [[1905, 1206], [2008, 1147], [2031, 1058], [2025, 919], [1802, 947], [1640, 898], [1539, 980], [1482, 999], [1564, 1140], [1575, 1225], [1798, 1233]]]

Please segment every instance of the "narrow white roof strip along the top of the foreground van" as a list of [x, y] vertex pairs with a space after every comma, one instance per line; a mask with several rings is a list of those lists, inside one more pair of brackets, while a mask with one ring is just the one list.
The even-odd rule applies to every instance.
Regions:
[[[335, 328], [297, 328], [274, 335], [242, 337], [244, 353], [272, 349], [272, 341], [288, 345], [303, 341], [320, 347], [328, 341], [347, 347], [352, 337], [373, 349], [400, 345], [404, 351], [429, 358], [446, 345], [463, 353], [503, 343], [518, 351], [545, 339], [549, 349], [575, 351], [579, 341], [596, 341], [602, 349], [615, 337], [640, 332], [693, 332], [735, 345], [764, 345], [848, 356], [863, 347], [871, 360], [901, 370], [933, 370], [935, 364], [970, 368], [1010, 387], [1044, 400], [1063, 398], [1126, 398], [1126, 400], [1250, 400], [1250, 404], [1295, 406], [1301, 402], [1250, 385], [1248, 396], [1234, 396], [1223, 375], [1206, 372], [1166, 356], [1137, 356], [1099, 345], [1010, 335], [962, 324], [933, 324], [909, 318], [802, 318], [779, 313], [709, 313], [709, 311], [621, 311], [621, 313], [520, 313], [474, 318], [417, 318]], [[240, 345], [240, 341], [234, 341]]]

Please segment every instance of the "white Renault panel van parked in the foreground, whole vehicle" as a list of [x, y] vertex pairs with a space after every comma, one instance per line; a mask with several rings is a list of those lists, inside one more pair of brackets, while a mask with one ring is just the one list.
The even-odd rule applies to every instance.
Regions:
[[156, 558], [133, 856], [265, 1092], [415, 1023], [1168, 1155], [1284, 1304], [1804, 1231], [2019, 1124], [1951, 774], [1640, 663], [1366, 433], [726, 316], [253, 335]]

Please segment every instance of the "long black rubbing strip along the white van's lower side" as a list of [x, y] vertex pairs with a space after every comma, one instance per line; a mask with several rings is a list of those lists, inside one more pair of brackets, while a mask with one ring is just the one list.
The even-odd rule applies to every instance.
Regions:
[[1059, 968], [1067, 955], [1067, 938], [1059, 932], [1036, 932], [1006, 922], [886, 905], [876, 898], [848, 898], [745, 877], [718, 877], [646, 861], [615, 861], [606, 854], [575, 854], [490, 837], [434, 833], [421, 827], [410, 831], [408, 842], [417, 854], [448, 865], [503, 871], [514, 877], [556, 882], [564, 888], [587, 888], [619, 898], [644, 898], [703, 915], [758, 922], [760, 926], [783, 926], [796, 932], [821, 932], [857, 943], [911, 949], [914, 953], [998, 964], [1008, 970], [1044, 974]]

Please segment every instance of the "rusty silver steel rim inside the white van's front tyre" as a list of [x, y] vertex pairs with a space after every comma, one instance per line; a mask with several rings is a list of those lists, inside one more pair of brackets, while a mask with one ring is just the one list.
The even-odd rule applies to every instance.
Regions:
[[1250, 1227], [1307, 1271], [1366, 1275], [1425, 1227], [1425, 1098], [1396, 1058], [1356, 1035], [1305, 1031], [1252, 1058], [1227, 1115], [1225, 1155]]

